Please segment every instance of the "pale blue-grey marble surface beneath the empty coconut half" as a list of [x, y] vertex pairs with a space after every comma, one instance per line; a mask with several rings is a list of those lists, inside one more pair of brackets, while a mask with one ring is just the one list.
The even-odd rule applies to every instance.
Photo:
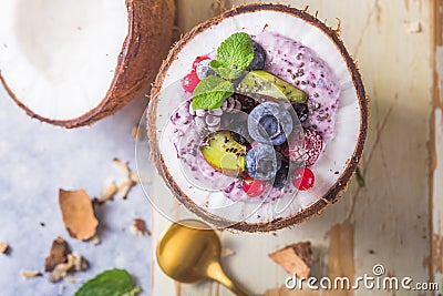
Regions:
[[[80, 280], [109, 268], [125, 268], [142, 286], [141, 295], [150, 295], [151, 237], [130, 231], [136, 217], [151, 226], [152, 210], [144, 193], [150, 184], [137, 184], [127, 200], [115, 198], [96, 211], [97, 246], [69, 236], [58, 204], [59, 188], [84, 188], [93, 197], [106, 183], [122, 178], [114, 157], [128, 161], [135, 170], [135, 145], [141, 155], [147, 146], [131, 134], [145, 105], [146, 99], [138, 98], [92, 126], [64, 130], [29, 118], [0, 86], [0, 241], [11, 246], [8, 255], [0, 254], [1, 296], [74, 294], [81, 283], [51, 284], [48, 274], [31, 279], [20, 275], [21, 269], [43, 272], [56, 236], [90, 262], [87, 272], [74, 274]], [[138, 166], [145, 176], [154, 172], [147, 160]], [[60, 284], [65, 287], [62, 294]]]

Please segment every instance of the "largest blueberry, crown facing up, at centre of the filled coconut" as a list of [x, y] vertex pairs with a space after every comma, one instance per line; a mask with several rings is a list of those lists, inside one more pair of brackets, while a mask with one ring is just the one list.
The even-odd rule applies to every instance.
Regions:
[[290, 113], [275, 102], [257, 105], [248, 118], [249, 135], [260, 143], [280, 145], [287, 141], [292, 127]]

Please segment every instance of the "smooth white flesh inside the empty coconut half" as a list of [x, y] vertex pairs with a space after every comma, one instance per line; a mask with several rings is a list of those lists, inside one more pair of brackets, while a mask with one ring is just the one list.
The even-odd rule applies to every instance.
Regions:
[[128, 32], [123, 0], [7, 0], [0, 71], [32, 113], [66, 121], [104, 100]]

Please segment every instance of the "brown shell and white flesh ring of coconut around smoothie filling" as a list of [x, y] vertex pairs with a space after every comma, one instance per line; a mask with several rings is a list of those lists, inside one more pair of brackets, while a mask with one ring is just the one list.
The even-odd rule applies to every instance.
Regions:
[[[261, 204], [234, 202], [220, 191], [208, 191], [189, 181], [181, 167], [176, 147], [168, 140], [174, 132], [168, 129], [169, 115], [185, 103], [177, 81], [188, 73], [196, 57], [214, 52], [235, 32], [257, 35], [264, 30], [301, 42], [332, 69], [341, 88], [334, 136], [311, 167], [316, 183], [310, 191]], [[218, 227], [246, 232], [275, 231], [303, 222], [338, 198], [362, 155], [368, 124], [368, 104], [359, 71], [337, 32], [306, 11], [259, 3], [237, 7], [187, 33], [169, 52], [157, 75], [147, 114], [153, 160], [179, 202]]]

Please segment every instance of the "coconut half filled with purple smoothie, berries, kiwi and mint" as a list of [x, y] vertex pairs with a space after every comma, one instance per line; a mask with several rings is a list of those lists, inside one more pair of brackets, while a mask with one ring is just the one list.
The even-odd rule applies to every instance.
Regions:
[[218, 228], [269, 232], [333, 203], [362, 155], [368, 104], [337, 30], [281, 4], [237, 7], [171, 50], [151, 93], [153, 161]]

